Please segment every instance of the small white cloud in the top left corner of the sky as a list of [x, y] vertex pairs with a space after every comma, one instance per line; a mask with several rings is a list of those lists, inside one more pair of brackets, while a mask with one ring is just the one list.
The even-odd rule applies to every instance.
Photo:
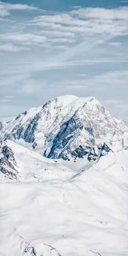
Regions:
[[8, 16], [13, 10], [38, 10], [38, 8], [23, 4], [7, 4], [0, 1], [0, 16]]

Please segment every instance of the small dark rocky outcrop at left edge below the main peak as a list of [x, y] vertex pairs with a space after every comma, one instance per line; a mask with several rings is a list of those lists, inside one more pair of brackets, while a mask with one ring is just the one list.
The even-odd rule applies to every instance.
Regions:
[[13, 151], [6, 145], [6, 142], [0, 141], [0, 172], [10, 179], [18, 179], [18, 173], [15, 169], [16, 162]]

